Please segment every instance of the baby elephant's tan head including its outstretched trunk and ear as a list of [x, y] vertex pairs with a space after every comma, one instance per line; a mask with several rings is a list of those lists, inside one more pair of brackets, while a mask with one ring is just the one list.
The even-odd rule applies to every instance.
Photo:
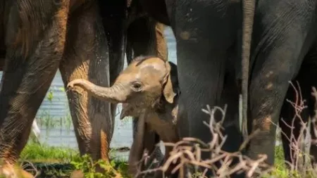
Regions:
[[175, 70], [175, 64], [161, 58], [139, 56], [120, 73], [112, 87], [99, 87], [87, 80], [73, 80], [68, 87], [81, 87], [101, 100], [123, 103], [121, 119], [128, 115], [137, 117], [144, 109], [154, 108], [162, 98], [173, 103], [178, 87], [173, 86], [178, 85]]

